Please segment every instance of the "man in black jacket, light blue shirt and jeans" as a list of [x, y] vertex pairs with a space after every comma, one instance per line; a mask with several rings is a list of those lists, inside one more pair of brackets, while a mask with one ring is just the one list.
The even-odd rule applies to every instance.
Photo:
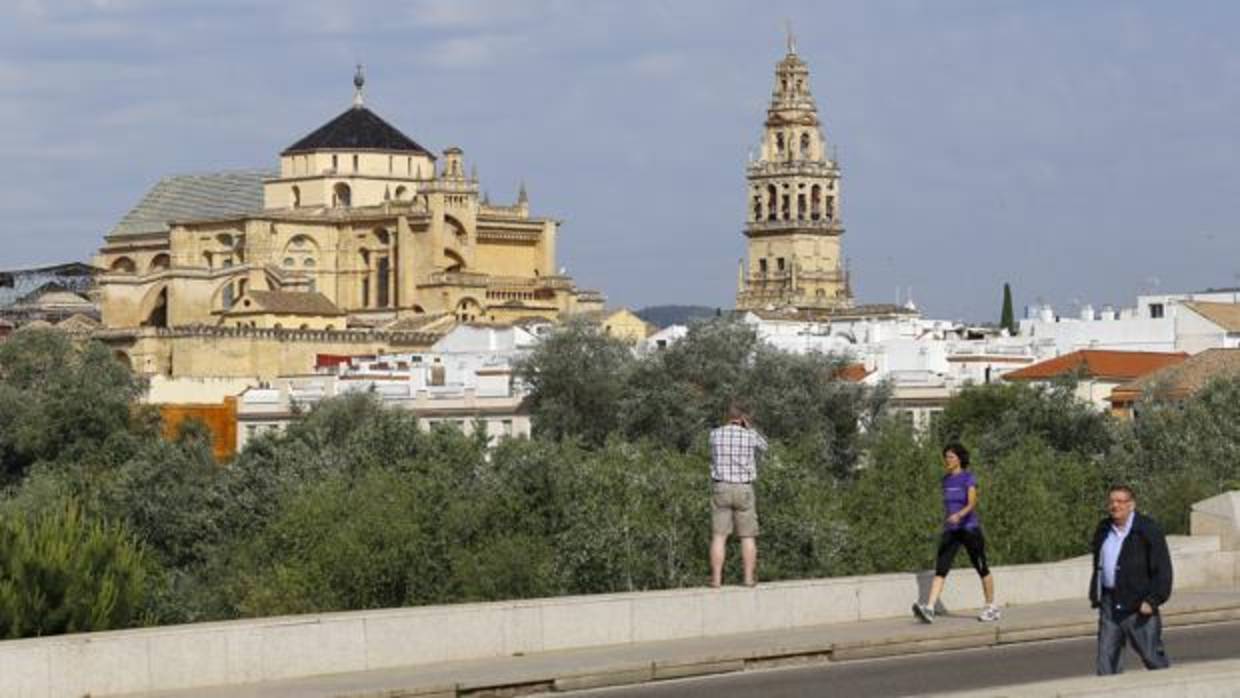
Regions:
[[1099, 609], [1099, 674], [1122, 671], [1125, 641], [1147, 669], [1171, 666], [1158, 616], [1158, 606], [1171, 598], [1171, 552], [1158, 524], [1136, 508], [1132, 490], [1123, 485], [1111, 487], [1107, 492], [1111, 516], [1099, 522], [1090, 546], [1094, 575], [1089, 600]]

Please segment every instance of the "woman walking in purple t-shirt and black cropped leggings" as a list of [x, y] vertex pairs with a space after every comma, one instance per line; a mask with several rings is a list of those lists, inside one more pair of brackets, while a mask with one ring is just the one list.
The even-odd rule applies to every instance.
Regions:
[[956, 553], [963, 546], [968, 552], [968, 562], [973, 563], [973, 569], [982, 578], [982, 594], [986, 596], [986, 607], [977, 620], [999, 620], [999, 609], [994, 605], [994, 578], [986, 565], [986, 538], [982, 537], [982, 523], [977, 516], [977, 479], [968, 471], [968, 451], [960, 444], [949, 444], [942, 449], [942, 465], [947, 471], [942, 476], [942, 508], [946, 519], [939, 539], [930, 596], [925, 604], [913, 604], [913, 615], [921, 622], [934, 622], [934, 609], [942, 594], [944, 581], [947, 580]]

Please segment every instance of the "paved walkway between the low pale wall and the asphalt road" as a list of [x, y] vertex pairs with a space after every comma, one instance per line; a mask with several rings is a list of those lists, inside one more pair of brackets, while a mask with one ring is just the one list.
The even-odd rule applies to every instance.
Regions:
[[[712, 638], [673, 640], [543, 652], [537, 655], [420, 665], [244, 686], [129, 694], [131, 698], [412, 698], [527, 694], [621, 686], [796, 666], [810, 662], [911, 655], [965, 647], [1094, 635], [1096, 616], [1084, 600], [1003, 609], [983, 624], [976, 611], [940, 616], [934, 625], [911, 617], [821, 625]], [[1163, 609], [1167, 626], [1240, 619], [1240, 589], [1177, 590]]]

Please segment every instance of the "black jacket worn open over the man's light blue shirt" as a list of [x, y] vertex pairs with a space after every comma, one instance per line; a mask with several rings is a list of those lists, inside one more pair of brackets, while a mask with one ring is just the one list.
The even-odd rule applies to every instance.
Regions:
[[[1141, 601], [1149, 601], [1157, 611], [1171, 598], [1171, 550], [1167, 549], [1167, 538], [1154, 519], [1138, 512], [1132, 512], [1132, 528], [1123, 539], [1116, 564], [1115, 603], [1123, 610], [1136, 611], [1141, 607]], [[1094, 575], [1089, 583], [1089, 600], [1094, 607], [1097, 607], [1102, 595], [1099, 565], [1102, 543], [1110, 529], [1110, 517], [1099, 522], [1090, 546], [1094, 552]]]

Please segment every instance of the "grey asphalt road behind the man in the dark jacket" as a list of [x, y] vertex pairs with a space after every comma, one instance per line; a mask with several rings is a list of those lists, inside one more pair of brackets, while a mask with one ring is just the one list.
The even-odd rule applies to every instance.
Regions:
[[[1169, 629], [1163, 643], [1173, 666], [1240, 658], [1240, 622]], [[838, 665], [754, 671], [574, 693], [596, 698], [883, 698], [972, 691], [1055, 678], [1091, 676], [1095, 641], [1055, 640], [934, 655], [859, 660]], [[1126, 671], [1146, 671], [1131, 650]]]

